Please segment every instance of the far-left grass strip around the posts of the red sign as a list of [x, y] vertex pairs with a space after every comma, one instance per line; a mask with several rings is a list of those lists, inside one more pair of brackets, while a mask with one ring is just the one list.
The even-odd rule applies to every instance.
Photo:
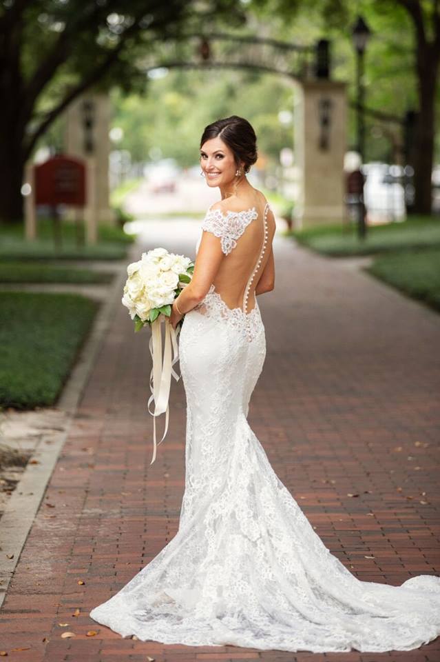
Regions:
[[112, 228], [99, 225], [98, 242], [95, 245], [77, 245], [76, 225], [63, 221], [62, 245], [56, 248], [53, 239], [51, 219], [37, 221], [38, 234], [35, 241], [26, 241], [23, 224], [0, 225], [0, 259], [124, 259], [128, 246], [134, 241], [121, 227]]

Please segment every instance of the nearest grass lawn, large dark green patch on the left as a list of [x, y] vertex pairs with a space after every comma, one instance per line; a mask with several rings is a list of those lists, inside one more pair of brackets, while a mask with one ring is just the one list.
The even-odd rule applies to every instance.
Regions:
[[0, 406], [54, 405], [99, 303], [79, 294], [0, 292]]

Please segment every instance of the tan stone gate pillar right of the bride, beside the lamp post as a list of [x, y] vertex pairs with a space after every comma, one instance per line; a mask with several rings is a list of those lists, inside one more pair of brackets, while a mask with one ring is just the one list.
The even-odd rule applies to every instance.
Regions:
[[294, 152], [298, 172], [295, 229], [342, 222], [346, 83], [295, 82]]

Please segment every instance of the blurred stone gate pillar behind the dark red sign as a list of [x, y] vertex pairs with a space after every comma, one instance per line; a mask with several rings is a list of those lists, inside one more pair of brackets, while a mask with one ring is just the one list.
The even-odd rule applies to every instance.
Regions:
[[[107, 94], [85, 93], [66, 111], [65, 151], [85, 159], [94, 190], [87, 196], [85, 217], [115, 225], [109, 205], [110, 101]], [[89, 177], [90, 179], [90, 177]]]

